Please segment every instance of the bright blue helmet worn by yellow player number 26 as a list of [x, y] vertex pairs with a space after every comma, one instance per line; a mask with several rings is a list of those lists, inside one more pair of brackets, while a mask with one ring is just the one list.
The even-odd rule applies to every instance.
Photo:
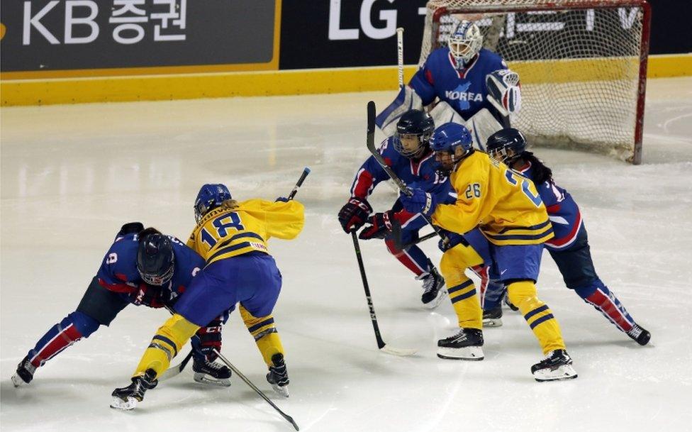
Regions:
[[459, 123], [445, 123], [435, 129], [430, 147], [435, 151], [435, 170], [444, 176], [450, 175], [457, 162], [474, 152], [471, 133]]

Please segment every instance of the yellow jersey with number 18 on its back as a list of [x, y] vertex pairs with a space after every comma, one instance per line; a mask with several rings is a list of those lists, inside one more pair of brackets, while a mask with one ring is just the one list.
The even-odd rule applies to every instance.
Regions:
[[259, 250], [269, 253], [271, 237], [290, 240], [303, 229], [303, 204], [298, 201], [242, 201], [231, 210], [218, 207], [197, 223], [187, 245], [207, 262]]

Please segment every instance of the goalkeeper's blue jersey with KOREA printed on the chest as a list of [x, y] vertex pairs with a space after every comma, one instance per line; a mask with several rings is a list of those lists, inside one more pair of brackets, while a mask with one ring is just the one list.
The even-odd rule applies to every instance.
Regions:
[[455, 65], [456, 60], [449, 48], [437, 48], [430, 52], [408, 86], [420, 96], [423, 106], [432, 103], [437, 96], [450, 104], [464, 120], [468, 120], [481, 109], [491, 108], [486, 97], [486, 76], [496, 70], [507, 69], [507, 65], [502, 57], [485, 48], [466, 68], [457, 70]]

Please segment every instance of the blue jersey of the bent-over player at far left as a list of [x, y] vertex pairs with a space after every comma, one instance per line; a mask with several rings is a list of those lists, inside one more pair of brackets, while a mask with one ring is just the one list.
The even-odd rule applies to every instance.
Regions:
[[[180, 240], [168, 236], [173, 245], [174, 270], [173, 277], [163, 287], [154, 287], [164, 290], [164, 306], [175, 304], [178, 296], [182, 294], [205, 262], [194, 250], [184, 245]], [[96, 277], [102, 287], [113, 292], [128, 295], [128, 301], [135, 303], [135, 297], [130, 294], [139, 291], [140, 285], [145, 285], [137, 270], [138, 236], [136, 233], [116, 237], [115, 242], [108, 249], [104, 261], [101, 263]], [[160, 307], [160, 306], [158, 306]]]

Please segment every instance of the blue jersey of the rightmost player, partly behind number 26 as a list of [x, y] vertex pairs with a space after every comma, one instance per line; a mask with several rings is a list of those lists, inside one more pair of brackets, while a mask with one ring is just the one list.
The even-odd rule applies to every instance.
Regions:
[[[532, 179], [531, 162], [521, 167], [520, 172], [524, 177]], [[579, 229], [584, 224], [581, 219], [579, 206], [576, 205], [569, 192], [557, 186], [552, 180], [536, 184], [538, 194], [540, 194], [545, 209], [548, 211], [548, 218], [552, 223], [554, 237], [547, 240], [545, 247], [552, 250], [567, 249], [576, 240]]]

